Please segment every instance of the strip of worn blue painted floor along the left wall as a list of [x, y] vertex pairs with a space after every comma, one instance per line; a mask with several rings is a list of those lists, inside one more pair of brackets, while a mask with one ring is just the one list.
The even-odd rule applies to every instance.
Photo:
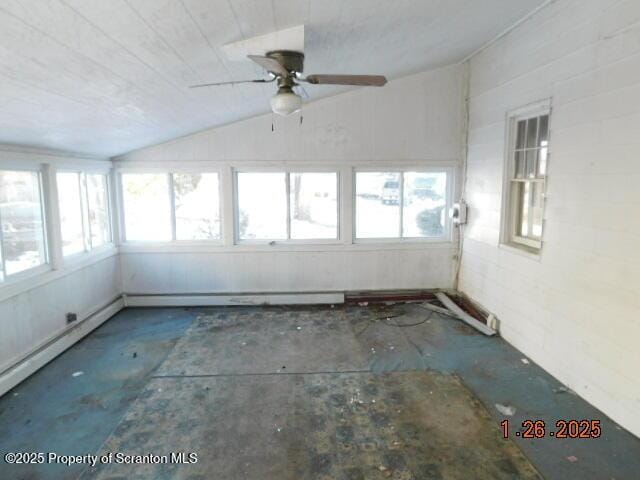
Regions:
[[[2, 455], [96, 452], [193, 318], [184, 309], [129, 309], [94, 330], [0, 399]], [[0, 459], [1, 479], [77, 478], [83, 469]]]

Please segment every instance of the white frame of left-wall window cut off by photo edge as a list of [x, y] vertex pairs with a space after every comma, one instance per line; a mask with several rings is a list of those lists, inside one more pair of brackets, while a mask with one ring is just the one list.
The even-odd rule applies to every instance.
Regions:
[[40, 195], [40, 216], [42, 218], [42, 250], [44, 261], [40, 265], [27, 268], [17, 273], [7, 274], [6, 272], [6, 256], [4, 254], [4, 237], [2, 232], [2, 223], [0, 218], [0, 271], [2, 279], [0, 280], [0, 288], [20, 282], [22, 280], [32, 278], [36, 275], [52, 270], [51, 266], [51, 249], [49, 239], [49, 218], [46, 209], [46, 191], [45, 191], [45, 169], [41, 164], [20, 165], [13, 162], [0, 163], [0, 170], [9, 172], [31, 172], [36, 173], [38, 178], [38, 192]]

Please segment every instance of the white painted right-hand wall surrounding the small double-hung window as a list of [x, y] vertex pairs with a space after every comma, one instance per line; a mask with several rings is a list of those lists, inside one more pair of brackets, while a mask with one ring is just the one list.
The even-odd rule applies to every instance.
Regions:
[[[505, 114], [552, 97], [539, 259], [499, 247]], [[640, 435], [640, 2], [558, 0], [470, 61], [459, 287]]]

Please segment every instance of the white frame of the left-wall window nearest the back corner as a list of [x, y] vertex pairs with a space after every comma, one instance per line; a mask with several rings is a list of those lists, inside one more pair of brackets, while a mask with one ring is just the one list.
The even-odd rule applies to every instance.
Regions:
[[[58, 192], [58, 174], [59, 173], [75, 173], [78, 175], [78, 182], [80, 186], [80, 210], [82, 213], [82, 240], [84, 242], [84, 250], [81, 252], [71, 253], [69, 255], [64, 254], [64, 248], [62, 245], [62, 217], [60, 216], [60, 193]], [[87, 175], [100, 175], [103, 176], [104, 187], [105, 187], [105, 196], [106, 196], [106, 206], [107, 206], [107, 226], [109, 228], [109, 236], [105, 242], [97, 247], [94, 247], [91, 243], [91, 221], [89, 220], [89, 189], [87, 187]], [[101, 252], [103, 250], [107, 250], [113, 247], [114, 245], [114, 234], [113, 234], [113, 212], [112, 212], [112, 202], [111, 202], [111, 188], [109, 182], [109, 172], [105, 172], [104, 170], [93, 170], [93, 169], [82, 169], [82, 168], [73, 168], [73, 167], [65, 167], [62, 166], [57, 168], [53, 172], [54, 181], [56, 182], [56, 204], [57, 204], [57, 225], [59, 229], [60, 235], [60, 258], [63, 262], [65, 261], [74, 261], [78, 258], [81, 258], [85, 255]]]

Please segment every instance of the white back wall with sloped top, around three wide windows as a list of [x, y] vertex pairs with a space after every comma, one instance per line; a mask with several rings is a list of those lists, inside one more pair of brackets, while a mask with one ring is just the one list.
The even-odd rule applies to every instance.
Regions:
[[463, 141], [462, 73], [461, 66], [447, 67], [396, 80], [381, 89], [363, 88], [306, 104], [302, 124], [298, 115], [263, 115], [115, 159], [121, 168], [219, 166], [227, 187], [233, 167], [332, 166], [341, 173], [344, 207], [339, 245], [234, 246], [229, 232], [232, 193], [225, 187], [225, 244], [200, 249], [125, 244], [121, 248], [125, 293], [451, 287], [456, 251], [451, 241], [352, 244], [351, 167], [412, 165], [455, 170]]

